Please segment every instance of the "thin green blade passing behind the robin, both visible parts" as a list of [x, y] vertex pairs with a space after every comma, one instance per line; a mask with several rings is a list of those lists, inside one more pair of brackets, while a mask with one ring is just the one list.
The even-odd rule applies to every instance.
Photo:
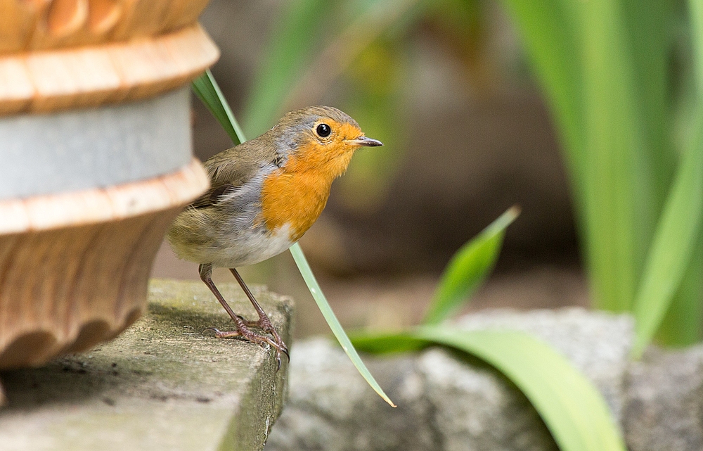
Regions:
[[[214, 77], [212, 77], [212, 73], [209, 70], [193, 82], [193, 90], [196, 94], [198, 94], [200, 100], [205, 103], [205, 106], [207, 106], [207, 108], [212, 111], [214, 116], [217, 117], [220, 124], [228, 131], [232, 137], [232, 141], [237, 143], [237, 141], [244, 142], [247, 140], [234, 115], [232, 114], [231, 108], [229, 108], [226, 99], [222, 95], [222, 91], [220, 91], [217, 86], [217, 82], [214, 80]], [[330, 307], [325, 295], [322, 293], [322, 290], [318, 285], [300, 246], [295, 243], [290, 248], [290, 253], [292, 253], [300, 274], [302, 274], [303, 279], [305, 279], [305, 283], [307, 284], [308, 289], [310, 290], [310, 293], [315, 299], [318, 307], [320, 307], [320, 311], [325, 317], [327, 324], [330, 325], [330, 329], [332, 329], [333, 334], [335, 334], [335, 337], [337, 337], [340, 345], [342, 345], [344, 352], [347, 352], [347, 355], [349, 356], [349, 359], [352, 360], [356, 370], [359, 371], [359, 374], [363, 376], [363, 379], [366, 379], [366, 382], [368, 382], [371, 388], [373, 388], [373, 390], [375, 390], [375, 392], [378, 393], [378, 395], [380, 395], [385, 402], [392, 405], [392, 407], [396, 407], [396, 405], [394, 405], [394, 403], [378, 385], [378, 382], [373, 379], [370, 371], [368, 371], [366, 365], [363, 364], [361, 358], [359, 358], [359, 354], [354, 349], [354, 345], [352, 345], [352, 342], [349, 341], [349, 337], [347, 337], [347, 334], [344, 333], [342, 325], [337, 320], [337, 317], [335, 317], [332, 307]]]

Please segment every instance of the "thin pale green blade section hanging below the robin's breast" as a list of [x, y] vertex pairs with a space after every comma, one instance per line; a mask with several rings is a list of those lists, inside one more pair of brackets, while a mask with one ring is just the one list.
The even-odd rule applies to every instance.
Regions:
[[342, 349], [349, 356], [349, 360], [352, 360], [354, 367], [356, 367], [356, 370], [359, 371], [361, 376], [363, 376], [363, 379], [366, 379], [368, 385], [370, 385], [371, 388], [373, 388], [373, 390], [378, 393], [383, 400], [385, 400], [385, 402], [392, 407], [396, 407], [393, 401], [388, 398], [382, 388], [378, 385], [378, 382], [373, 379], [370, 371], [368, 371], [366, 365], [361, 361], [361, 357], [359, 357], [359, 354], [356, 352], [356, 349], [354, 349], [352, 341], [350, 341], [347, 334], [344, 333], [342, 324], [340, 324], [339, 320], [335, 316], [335, 312], [332, 311], [332, 307], [330, 307], [325, 295], [322, 293], [322, 289], [315, 279], [315, 274], [312, 273], [312, 269], [310, 269], [310, 265], [308, 265], [307, 259], [305, 258], [305, 255], [303, 254], [303, 251], [298, 243], [295, 243], [290, 247], [290, 253], [293, 255], [295, 263], [298, 265], [300, 274], [302, 274], [303, 279], [305, 279], [305, 283], [307, 284], [312, 297], [315, 299], [317, 306], [320, 308], [320, 312], [322, 312], [327, 324], [329, 324], [330, 329], [332, 329], [332, 333], [335, 334], [335, 337], [337, 337], [337, 341], [339, 341], [340, 345], [342, 345]]

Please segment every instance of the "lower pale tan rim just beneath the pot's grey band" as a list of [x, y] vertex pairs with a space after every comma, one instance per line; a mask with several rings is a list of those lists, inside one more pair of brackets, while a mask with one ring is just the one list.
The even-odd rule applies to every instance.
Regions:
[[181, 170], [153, 179], [0, 201], [0, 235], [122, 220], [186, 205], [205, 192], [209, 177], [193, 158]]

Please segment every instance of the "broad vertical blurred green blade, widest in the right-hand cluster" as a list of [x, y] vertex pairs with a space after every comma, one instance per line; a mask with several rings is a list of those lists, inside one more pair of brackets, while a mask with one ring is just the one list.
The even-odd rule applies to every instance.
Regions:
[[[655, 217], [643, 214], [651, 195], [643, 124], [628, 35], [619, 2], [593, 0], [583, 8], [586, 110], [586, 238], [597, 307], [629, 311]], [[648, 234], [647, 234], [648, 238]]]

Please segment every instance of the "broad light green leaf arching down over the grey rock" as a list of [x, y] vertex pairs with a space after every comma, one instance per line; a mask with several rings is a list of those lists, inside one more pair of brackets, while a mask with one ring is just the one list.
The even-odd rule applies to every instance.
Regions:
[[398, 352], [439, 344], [501, 371], [529, 399], [561, 451], [626, 451], [602, 395], [553, 348], [518, 331], [423, 326], [405, 334], [354, 338], [360, 350]]

